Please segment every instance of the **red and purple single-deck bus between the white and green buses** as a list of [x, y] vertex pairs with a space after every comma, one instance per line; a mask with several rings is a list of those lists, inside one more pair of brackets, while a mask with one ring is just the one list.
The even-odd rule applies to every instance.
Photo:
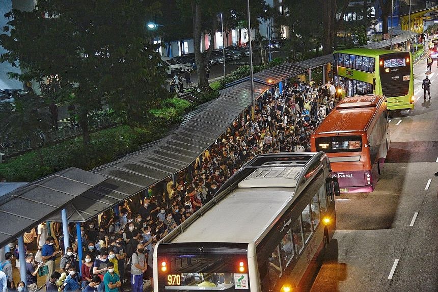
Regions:
[[385, 96], [342, 99], [311, 136], [311, 151], [329, 156], [343, 193], [372, 192], [390, 144]]

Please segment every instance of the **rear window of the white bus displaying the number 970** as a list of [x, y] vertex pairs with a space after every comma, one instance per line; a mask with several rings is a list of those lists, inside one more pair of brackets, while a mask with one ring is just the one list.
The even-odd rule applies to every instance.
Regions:
[[[249, 289], [247, 260], [235, 256], [177, 255], [168, 256], [169, 271], [162, 279], [166, 290], [226, 290]], [[238, 272], [243, 262], [243, 272]], [[206, 288], [208, 287], [208, 288]]]

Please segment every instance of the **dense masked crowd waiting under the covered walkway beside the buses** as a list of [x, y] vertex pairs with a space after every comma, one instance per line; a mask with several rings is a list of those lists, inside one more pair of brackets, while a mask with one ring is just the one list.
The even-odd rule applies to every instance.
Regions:
[[[132, 292], [142, 292], [144, 281], [151, 280], [152, 286], [156, 243], [211, 200], [216, 190], [255, 155], [310, 151], [312, 131], [338, 101], [333, 89], [330, 83], [316, 85], [313, 79], [272, 88], [257, 101], [254, 117], [250, 113], [240, 116], [202, 158], [148, 193], [86, 222], [80, 234], [75, 225], [69, 225], [68, 242], [57, 222], [41, 223], [37, 231], [25, 233], [25, 289], [37, 290], [38, 275], [46, 275], [46, 291], [53, 292], [118, 292], [128, 286], [128, 281]], [[24, 283], [14, 284], [12, 275], [14, 258], [19, 267], [18, 247], [16, 243], [9, 246], [11, 252], [0, 263], [0, 285], [5, 280], [9, 290], [18, 288], [21, 292]]]

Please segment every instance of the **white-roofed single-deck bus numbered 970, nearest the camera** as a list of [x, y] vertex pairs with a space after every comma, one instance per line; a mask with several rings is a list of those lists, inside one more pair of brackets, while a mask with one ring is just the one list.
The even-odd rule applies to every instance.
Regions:
[[258, 155], [154, 249], [154, 291], [307, 289], [336, 229], [323, 152]]

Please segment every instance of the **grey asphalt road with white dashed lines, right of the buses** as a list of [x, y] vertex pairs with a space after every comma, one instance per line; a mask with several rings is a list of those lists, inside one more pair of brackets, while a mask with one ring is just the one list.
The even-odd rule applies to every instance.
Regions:
[[438, 291], [438, 67], [426, 102], [425, 68], [414, 67], [415, 109], [390, 122], [376, 190], [336, 198], [337, 231], [312, 292]]

